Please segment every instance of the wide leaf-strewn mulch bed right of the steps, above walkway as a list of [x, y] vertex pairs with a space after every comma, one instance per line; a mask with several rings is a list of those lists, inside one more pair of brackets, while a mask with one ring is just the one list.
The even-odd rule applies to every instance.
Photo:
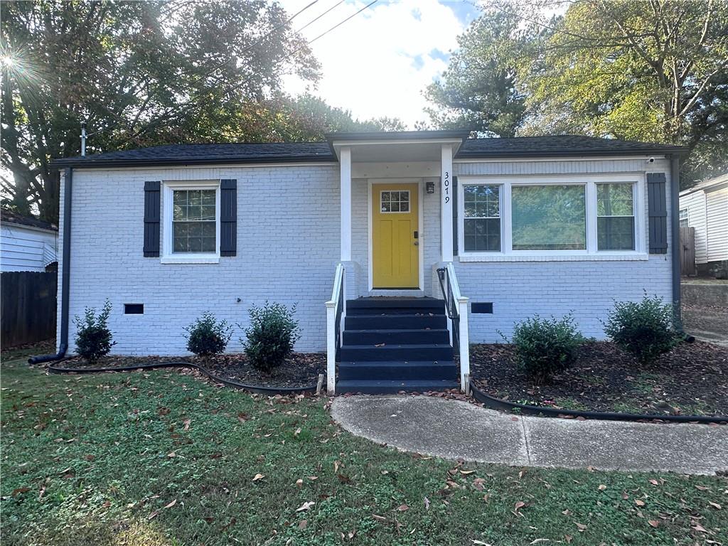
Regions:
[[590, 341], [577, 362], [536, 385], [518, 368], [515, 348], [475, 345], [470, 376], [509, 402], [582, 411], [728, 416], [728, 348], [683, 343], [645, 368], [609, 341]]

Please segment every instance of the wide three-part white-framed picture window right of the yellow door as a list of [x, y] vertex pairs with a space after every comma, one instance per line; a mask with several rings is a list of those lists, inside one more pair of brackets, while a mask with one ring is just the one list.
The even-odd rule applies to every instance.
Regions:
[[[461, 261], [648, 257], [644, 173], [464, 175], [459, 181]], [[492, 203], [479, 205], [486, 195]]]

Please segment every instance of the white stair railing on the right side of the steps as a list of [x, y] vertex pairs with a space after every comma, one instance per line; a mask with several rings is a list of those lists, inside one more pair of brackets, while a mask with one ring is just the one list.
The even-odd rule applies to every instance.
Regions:
[[450, 261], [445, 267], [438, 269], [440, 289], [445, 298], [445, 309], [448, 314], [448, 325], [451, 327], [453, 345], [460, 355], [460, 389], [469, 393], [470, 385], [470, 336], [467, 324], [468, 298], [460, 293], [455, 268]]

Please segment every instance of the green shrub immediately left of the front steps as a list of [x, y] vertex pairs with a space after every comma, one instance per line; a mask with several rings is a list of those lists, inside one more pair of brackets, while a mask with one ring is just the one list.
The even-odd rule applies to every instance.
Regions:
[[282, 304], [253, 305], [248, 309], [250, 326], [245, 330], [246, 339], [240, 339], [250, 364], [258, 370], [271, 373], [293, 351], [293, 345], [301, 337], [298, 321], [293, 319], [296, 306], [288, 309]]

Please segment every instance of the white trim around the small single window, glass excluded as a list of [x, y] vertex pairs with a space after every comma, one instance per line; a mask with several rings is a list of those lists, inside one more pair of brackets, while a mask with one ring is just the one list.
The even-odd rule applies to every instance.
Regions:
[[[164, 181], [162, 191], [162, 264], [218, 264], [220, 262], [220, 181], [191, 180]], [[173, 191], [214, 189], [215, 190], [215, 252], [181, 253], [174, 252], [173, 241]]]

